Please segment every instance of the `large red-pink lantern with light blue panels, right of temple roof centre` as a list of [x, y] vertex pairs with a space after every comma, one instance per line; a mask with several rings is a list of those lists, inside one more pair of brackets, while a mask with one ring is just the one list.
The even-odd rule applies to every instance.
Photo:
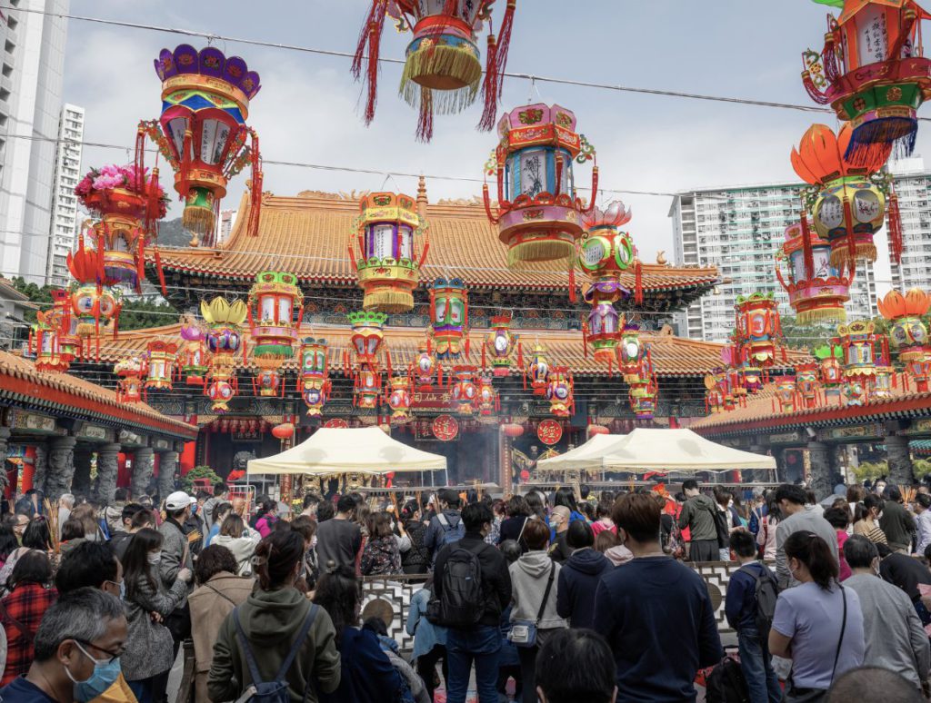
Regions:
[[[581, 217], [590, 212], [575, 195], [573, 160], [594, 159], [595, 149], [575, 133], [575, 115], [559, 105], [538, 103], [506, 113], [498, 123], [501, 143], [487, 168], [498, 179], [498, 206], [492, 212], [488, 185], [485, 209], [507, 245], [507, 265], [519, 268], [539, 261], [573, 266]], [[592, 191], [598, 194], [598, 166]]]

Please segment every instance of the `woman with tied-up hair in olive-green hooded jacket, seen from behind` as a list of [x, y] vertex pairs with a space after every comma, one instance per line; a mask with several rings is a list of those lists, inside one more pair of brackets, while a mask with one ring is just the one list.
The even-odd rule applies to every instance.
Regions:
[[336, 690], [339, 630], [326, 610], [294, 588], [303, 557], [304, 538], [293, 530], [274, 530], [256, 546], [252, 573], [258, 585], [220, 627], [207, 682], [210, 700], [235, 700], [256, 679], [278, 681], [292, 649], [294, 657], [283, 676], [292, 701], [317, 703]]

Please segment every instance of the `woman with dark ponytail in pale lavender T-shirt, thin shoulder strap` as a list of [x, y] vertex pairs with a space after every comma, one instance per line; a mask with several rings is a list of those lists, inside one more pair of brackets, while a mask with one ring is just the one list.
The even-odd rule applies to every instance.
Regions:
[[799, 585], [779, 594], [769, 651], [792, 660], [786, 701], [820, 701], [837, 677], [863, 664], [863, 612], [857, 593], [837, 580], [838, 564], [824, 539], [796, 532], [785, 550]]

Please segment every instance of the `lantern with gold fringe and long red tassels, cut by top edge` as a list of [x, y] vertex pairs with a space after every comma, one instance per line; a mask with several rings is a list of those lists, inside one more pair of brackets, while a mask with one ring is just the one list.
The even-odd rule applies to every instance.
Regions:
[[[375, 116], [379, 47], [385, 15], [397, 20], [399, 30], [412, 30], [413, 39], [407, 47], [401, 73], [400, 94], [419, 110], [417, 137], [428, 141], [433, 136], [434, 113], [458, 113], [471, 105], [479, 94], [482, 70], [476, 34], [484, 22], [491, 22], [493, 4], [494, 0], [371, 0], [352, 64], [357, 80], [363, 72], [366, 76], [365, 124], [370, 124]], [[482, 84], [485, 107], [479, 123], [483, 129], [494, 126], [516, 7], [517, 0], [506, 0], [498, 38], [491, 32], [488, 35]]]

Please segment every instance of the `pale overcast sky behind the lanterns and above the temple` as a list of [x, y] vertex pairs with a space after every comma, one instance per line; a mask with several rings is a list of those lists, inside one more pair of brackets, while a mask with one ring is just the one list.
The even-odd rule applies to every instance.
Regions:
[[[264, 42], [352, 51], [371, 0], [263, 3], [170, 0], [72, 0], [74, 15], [191, 29]], [[498, 6], [504, 5], [499, 0]], [[501, 7], [496, 7], [495, 27]], [[807, 46], [820, 50], [828, 7], [809, 0], [519, 0], [508, 69], [517, 73], [612, 85], [809, 105], [799, 73]], [[399, 58], [408, 35], [385, 26], [382, 55]], [[87, 110], [86, 139], [131, 147], [136, 124], [160, 110], [153, 60], [163, 46], [204, 40], [179, 34], [71, 20], [65, 99]], [[349, 60], [266, 46], [218, 41], [262, 75], [250, 124], [270, 160], [481, 178], [495, 143], [474, 126], [476, 104], [462, 115], [439, 117], [431, 143], [413, 135], [416, 113], [397, 96], [400, 69], [383, 65], [378, 113], [366, 128], [358, 116], [360, 86]], [[484, 46], [484, 38], [480, 41]], [[537, 94], [538, 93], [538, 94]], [[508, 79], [504, 105], [558, 102], [574, 111], [578, 129], [595, 145], [604, 188], [676, 192], [690, 188], [795, 180], [789, 151], [813, 122], [835, 126], [832, 115], [637, 95], [538, 81]], [[919, 134], [917, 153], [929, 137]], [[924, 150], [927, 151], [927, 150]], [[88, 148], [84, 166], [128, 161], [129, 152]], [[587, 184], [578, 167], [576, 183]], [[245, 177], [231, 186], [235, 206]], [[169, 177], [163, 176], [169, 187]], [[266, 166], [264, 189], [401, 190], [415, 179]], [[479, 183], [429, 180], [431, 200], [471, 197]], [[605, 193], [633, 207], [629, 228], [645, 260], [657, 249], [672, 254], [670, 197]], [[176, 206], [175, 213], [180, 213]]]

